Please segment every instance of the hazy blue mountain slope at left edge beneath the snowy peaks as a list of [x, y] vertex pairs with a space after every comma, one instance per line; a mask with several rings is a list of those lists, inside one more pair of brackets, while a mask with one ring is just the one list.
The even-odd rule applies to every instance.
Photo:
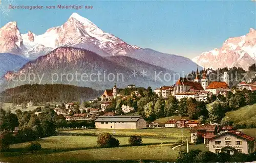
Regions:
[[0, 78], [7, 72], [20, 69], [28, 62], [27, 59], [12, 55], [10, 53], [0, 53]]

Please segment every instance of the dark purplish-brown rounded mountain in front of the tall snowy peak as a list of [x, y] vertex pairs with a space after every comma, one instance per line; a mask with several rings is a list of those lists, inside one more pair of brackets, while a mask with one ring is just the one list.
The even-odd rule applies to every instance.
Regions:
[[[59, 47], [46, 56], [28, 62], [18, 72], [8, 72], [2, 88], [12, 88], [24, 84], [70, 84], [94, 89], [111, 88], [136, 84], [153, 88], [161, 85], [152, 76], [132, 76], [133, 69], [127, 69], [104, 59], [96, 53], [73, 47]], [[26, 74], [21, 76], [21, 74]], [[34, 74], [35, 80], [28, 76]], [[38, 77], [39, 76], [39, 77]], [[33, 76], [32, 76], [33, 77]], [[42, 78], [42, 80], [40, 80]]]

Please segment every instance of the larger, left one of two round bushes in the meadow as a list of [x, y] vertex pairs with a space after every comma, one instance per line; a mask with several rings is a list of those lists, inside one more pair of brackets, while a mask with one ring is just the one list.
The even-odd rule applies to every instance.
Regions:
[[108, 132], [102, 132], [98, 135], [97, 143], [100, 147], [118, 147], [119, 141], [112, 137]]

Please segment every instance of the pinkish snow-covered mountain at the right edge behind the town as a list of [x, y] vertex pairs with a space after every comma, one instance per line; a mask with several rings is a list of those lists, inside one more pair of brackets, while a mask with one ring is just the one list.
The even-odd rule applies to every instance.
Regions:
[[220, 49], [203, 52], [193, 61], [214, 69], [236, 66], [248, 70], [256, 62], [256, 30], [250, 29], [248, 34], [241, 37], [231, 37]]

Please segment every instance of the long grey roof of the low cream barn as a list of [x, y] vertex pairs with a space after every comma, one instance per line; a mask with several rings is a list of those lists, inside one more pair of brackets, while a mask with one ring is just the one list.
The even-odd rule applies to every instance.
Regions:
[[137, 122], [141, 116], [99, 116], [94, 122]]

